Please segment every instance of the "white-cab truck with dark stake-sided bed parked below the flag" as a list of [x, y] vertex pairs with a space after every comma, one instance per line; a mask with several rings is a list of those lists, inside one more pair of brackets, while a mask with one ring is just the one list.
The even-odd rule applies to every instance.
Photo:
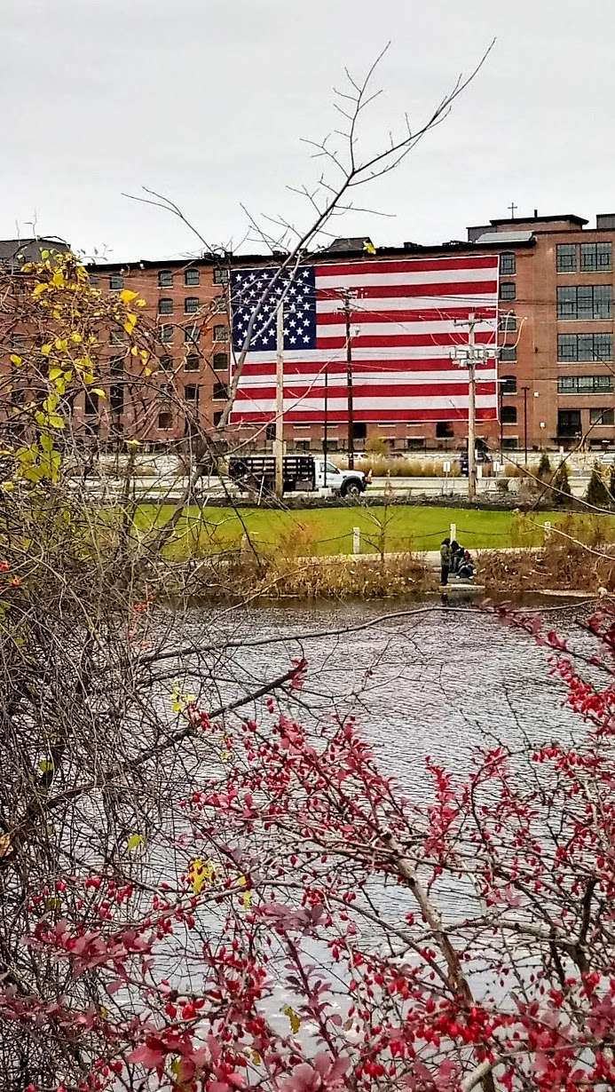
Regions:
[[[323, 455], [284, 455], [284, 492], [331, 489], [340, 497], [358, 497], [371, 477], [363, 471], [341, 471]], [[271, 494], [275, 486], [273, 455], [232, 455], [228, 476], [245, 492]]]

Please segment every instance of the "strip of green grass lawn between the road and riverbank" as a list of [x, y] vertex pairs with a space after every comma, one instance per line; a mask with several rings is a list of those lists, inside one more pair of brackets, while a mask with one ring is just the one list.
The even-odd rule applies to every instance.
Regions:
[[[165, 523], [172, 506], [143, 505], [139, 511], [141, 531]], [[353, 527], [360, 527], [362, 553], [438, 549], [450, 523], [468, 549], [541, 545], [542, 532], [532, 524], [565, 519], [561, 512], [532, 514], [520, 534], [520, 518], [513, 512], [485, 512], [457, 508], [317, 508], [294, 511], [277, 509], [193, 507], [180, 519], [177, 534], [167, 547], [169, 557], [205, 556], [236, 547], [245, 529], [263, 551], [286, 556], [352, 554]], [[610, 519], [615, 536], [615, 520]]]

